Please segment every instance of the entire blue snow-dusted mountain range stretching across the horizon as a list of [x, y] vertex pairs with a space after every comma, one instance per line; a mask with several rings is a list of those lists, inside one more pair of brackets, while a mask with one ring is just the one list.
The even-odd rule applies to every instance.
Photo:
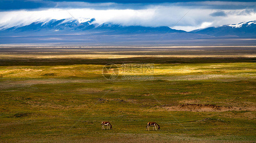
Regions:
[[[173, 43], [177, 39], [256, 36], [256, 21], [197, 29], [190, 32], [168, 26], [144, 27], [97, 24], [96, 19], [51, 19], [0, 29], [0, 44], [9, 43]], [[160, 40], [159, 40], [160, 39]]]

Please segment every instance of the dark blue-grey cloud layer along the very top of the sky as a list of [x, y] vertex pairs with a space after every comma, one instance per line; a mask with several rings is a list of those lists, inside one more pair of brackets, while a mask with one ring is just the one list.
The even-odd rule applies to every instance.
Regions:
[[[150, 5], [176, 5], [200, 9], [235, 10], [256, 8], [254, 0], [0, 0], [0, 10], [31, 10], [47, 8], [145, 9]], [[218, 4], [220, 3], [221, 4]], [[241, 2], [237, 4], [237, 2]], [[248, 3], [249, 2], [249, 3]], [[105, 5], [104, 5], [105, 4]]]

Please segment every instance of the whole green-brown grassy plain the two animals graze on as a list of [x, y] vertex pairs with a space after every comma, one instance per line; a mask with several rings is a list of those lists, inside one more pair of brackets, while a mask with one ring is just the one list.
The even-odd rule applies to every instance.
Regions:
[[[26, 57], [31, 52], [24, 57], [2, 53], [0, 141], [255, 142], [253, 50], [244, 57], [228, 51], [219, 57], [73, 55], [55, 60]], [[46, 53], [33, 53], [41, 54]], [[120, 72], [107, 80], [102, 68], [108, 62], [119, 68], [123, 62], [155, 63], [154, 73], [129, 73], [154, 79], [123, 80], [127, 73]], [[102, 121], [110, 121], [113, 129], [102, 130]], [[146, 131], [148, 121], [160, 130]]]

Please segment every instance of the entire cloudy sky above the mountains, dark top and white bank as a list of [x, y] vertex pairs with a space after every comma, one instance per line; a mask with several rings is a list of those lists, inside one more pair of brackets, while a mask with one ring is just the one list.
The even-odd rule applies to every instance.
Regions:
[[1, 0], [0, 28], [47, 19], [95, 18], [122, 25], [191, 31], [256, 20], [252, 0]]

